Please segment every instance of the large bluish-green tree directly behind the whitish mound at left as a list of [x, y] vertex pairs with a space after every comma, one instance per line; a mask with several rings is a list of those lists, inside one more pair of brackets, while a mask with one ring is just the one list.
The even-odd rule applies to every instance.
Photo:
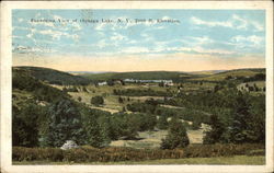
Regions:
[[69, 100], [60, 100], [49, 106], [48, 132], [45, 137], [46, 146], [60, 147], [66, 140], [73, 140], [81, 145], [83, 129], [81, 115], [77, 105]]

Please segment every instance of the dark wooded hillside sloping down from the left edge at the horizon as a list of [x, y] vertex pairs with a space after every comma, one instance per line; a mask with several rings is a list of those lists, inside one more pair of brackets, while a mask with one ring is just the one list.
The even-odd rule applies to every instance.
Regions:
[[89, 84], [91, 80], [67, 72], [42, 67], [13, 67], [13, 69], [28, 71], [34, 78], [50, 84]]

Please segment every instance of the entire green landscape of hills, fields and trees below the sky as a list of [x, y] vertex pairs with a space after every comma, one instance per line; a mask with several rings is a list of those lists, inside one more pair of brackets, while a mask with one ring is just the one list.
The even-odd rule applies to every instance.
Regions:
[[[46, 73], [53, 78], [44, 77]], [[169, 152], [179, 149], [194, 157], [194, 151], [186, 149], [189, 146], [222, 143], [217, 146], [222, 149], [226, 145], [247, 145], [244, 153], [232, 153], [239, 164], [262, 164], [263, 158], [246, 153], [256, 150], [250, 143], [264, 150], [265, 90], [264, 69], [76, 76], [16, 67], [12, 91], [13, 147], [26, 148], [22, 152], [16, 150], [19, 154], [24, 154], [27, 148], [50, 147], [57, 152], [53, 154], [58, 155], [62, 152], [55, 149], [73, 140], [80, 147], [98, 148], [90, 151], [100, 154], [125, 148], [126, 151], [122, 150], [129, 160], [133, 152], [145, 154], [142, 150], [167, 154], [161, 159], [151, 151], [155, 161], [136, 162], [140, 164], [218, 164], [220, 158], [206, 149], [201, 152], [208, 159], [168, 160], [172, 159]], [[260, 151], [259, 155], [263, 153]], [[251, 160], [242, 162], [244, 157]], [[229, 158], [225, 160], [221, 163], [232, 163]], [[112, 160], [109, 162], [112, 164]]]

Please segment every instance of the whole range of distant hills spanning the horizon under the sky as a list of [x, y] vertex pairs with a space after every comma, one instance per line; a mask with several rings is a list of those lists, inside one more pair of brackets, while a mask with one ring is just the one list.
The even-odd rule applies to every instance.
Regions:
[[184, 81], [213, 81], [240, 80], [242, 82], [265, 80], [265, 68], [236, 69], [220, 72], [178, 72], [178, 71], [138, 71], [138, 72], [104, 72], [71, 74], [42, 67], [13, 67], [16, 70], [27, 71], [35, 79], [50, 84], [61, 85], [87, 85], [89, 83], [107, 81], [113, 79], [138, 79], [138, 80], [172, 80]]

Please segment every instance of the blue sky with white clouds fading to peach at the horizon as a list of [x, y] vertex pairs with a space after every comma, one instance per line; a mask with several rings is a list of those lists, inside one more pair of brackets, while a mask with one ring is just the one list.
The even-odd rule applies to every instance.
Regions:
[[265, 67], [263, 10], [13, 10], [13, 66], [62, 71]]

